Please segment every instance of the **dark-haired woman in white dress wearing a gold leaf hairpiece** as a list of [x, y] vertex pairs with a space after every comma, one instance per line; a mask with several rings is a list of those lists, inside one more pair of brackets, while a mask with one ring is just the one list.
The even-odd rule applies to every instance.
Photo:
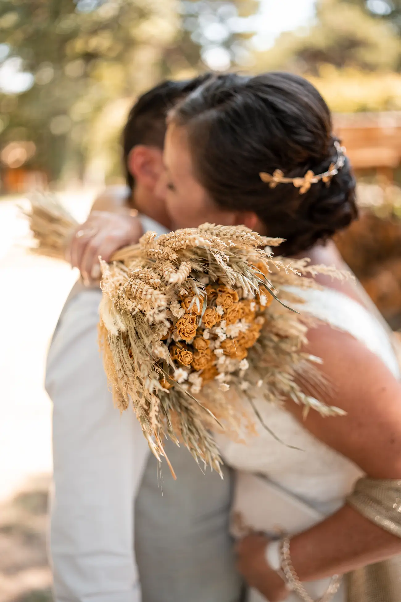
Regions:
[[[164, 161], [173, 228], [245, 224], [285, 238], [283, 255], [341, 267], [322, 243], [357, 216], [343, 157], [328, 107], [305, 79], [218, 76], [170, 113]], [[240, 539], [237, 568], [251, 602], [399, 600], [397, 563], [381, 562], [401, 554], [401, 387], [390, 336], [352, 283], [297, 294], [300, 311], [319, 318], [307, 351], [322, 358], [331, 384], [322, 400], [346, 415], [304, 419], [291, 400], [283, 408], [260, 402], [281, 441], [262, 427], [246, 445], [218, 436], [240, 476], [236, 498], [255, 487], [248, 515], [287, 533]], [[256, 474], [262, 478], [247, 480]]]

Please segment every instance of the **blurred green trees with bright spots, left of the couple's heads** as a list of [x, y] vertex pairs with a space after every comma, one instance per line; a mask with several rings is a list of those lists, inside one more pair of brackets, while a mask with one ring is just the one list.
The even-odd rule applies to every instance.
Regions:
[[[2, 160], [51, 181], [120, 173], [118, 134], [133, 96], [208, 60], [239, 64], [230, 29], [256, 0], [5, 0], [0, 6]], [[242, 54], [241, 54], [242, 51]]]

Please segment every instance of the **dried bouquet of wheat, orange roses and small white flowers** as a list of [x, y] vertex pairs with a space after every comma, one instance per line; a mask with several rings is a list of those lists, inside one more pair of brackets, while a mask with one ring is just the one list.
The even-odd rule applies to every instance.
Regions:
[[[68, 219], [52, 203], [32, 203], [31, 229], [37, 252], [60, 256], [49, 253], [48, 241], [62, 248]], [[271, 247], [280, 243], [245, 226], [205, 223], [159, 237], [147, 232], [111, 264], [101, 262], [105, 370], [115, 404], [121, 411], [132, 405], [158, 458], [168, 436], [219, 471], [210, 431], [239, 438], [244, 425], [253, 429], [262, 420], [254, 405], [260, 397], [342, 413], [314, 396], [323, 385], [313, 367], [319, 359], [301, 351], [307, 318], [286, 305], [300, 302], [293, 285], [316, 286], [302, 274], [334, 270], [275, 259]]]

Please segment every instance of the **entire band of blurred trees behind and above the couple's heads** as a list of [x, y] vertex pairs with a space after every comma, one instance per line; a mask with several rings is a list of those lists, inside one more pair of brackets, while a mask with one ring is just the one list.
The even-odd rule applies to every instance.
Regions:
[[298, 4], [313, 16], [275, 39], [276, 0], [2, 0], [0, 167], [109, 181], [133, 98], [204, 70], [287, 69], [334, 111], [401, 109], [401, 0]]

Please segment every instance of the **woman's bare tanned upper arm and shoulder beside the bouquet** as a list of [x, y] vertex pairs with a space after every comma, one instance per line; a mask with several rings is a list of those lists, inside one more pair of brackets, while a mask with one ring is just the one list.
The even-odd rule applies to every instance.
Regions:
[[314, 436], [377, 478], [401, 474], [401, 385], [386, 365], [347, 332], [320, 324], [308, 333], [309, 353], [323, 360], [328, 383], [324, 401], [346, 412], [323, 418], [311, 411], [305, 421]]

